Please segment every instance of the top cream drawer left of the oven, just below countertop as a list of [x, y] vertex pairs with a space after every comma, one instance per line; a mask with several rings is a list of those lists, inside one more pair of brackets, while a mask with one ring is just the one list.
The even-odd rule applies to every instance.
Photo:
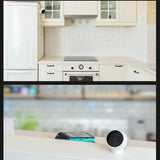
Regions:
[[57, 65], [57, 64], [53, 64], [53, 63], [39, 64], [39, 70], [40, 71], [48, 71], [48, 72], [62, 71], [62, 65]]

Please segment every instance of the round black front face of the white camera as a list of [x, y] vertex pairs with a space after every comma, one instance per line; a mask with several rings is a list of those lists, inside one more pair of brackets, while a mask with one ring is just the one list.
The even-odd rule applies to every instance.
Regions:
[[119, 131], [112, 131], [107, 135], [107, 143], [112, 147], [118, 147], [123, 142], [123, 135]]

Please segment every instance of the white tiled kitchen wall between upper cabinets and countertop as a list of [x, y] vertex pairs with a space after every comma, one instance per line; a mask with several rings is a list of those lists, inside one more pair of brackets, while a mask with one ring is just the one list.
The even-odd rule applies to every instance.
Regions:
[[95, 27], [95, 19], [66, 19], [45, 28], [46, 56], [129, 56], [155, 63], [155, 25], [147, 25], [147, 2], [138, 2], [136, 27]]

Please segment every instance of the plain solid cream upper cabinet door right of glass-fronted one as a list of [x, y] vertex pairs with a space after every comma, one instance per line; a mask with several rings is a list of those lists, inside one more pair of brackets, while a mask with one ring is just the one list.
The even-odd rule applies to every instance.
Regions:
[[120, 1], [119, 2], [119, 22], [120, 23], [136, 23], [137, 20], [137, 2], [136, 1]]

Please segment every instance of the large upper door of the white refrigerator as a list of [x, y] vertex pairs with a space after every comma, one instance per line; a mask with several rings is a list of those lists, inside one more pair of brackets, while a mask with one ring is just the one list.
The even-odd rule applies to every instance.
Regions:
[[37, 69], [37, 5], [4, 6], [4, 69]]

